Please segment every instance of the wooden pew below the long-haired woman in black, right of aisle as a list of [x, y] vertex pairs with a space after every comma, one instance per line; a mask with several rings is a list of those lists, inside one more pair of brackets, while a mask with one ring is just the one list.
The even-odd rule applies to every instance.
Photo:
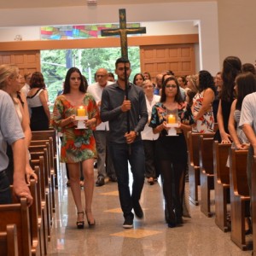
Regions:
[[213, 143], [213, 172], [215, 191], [215, 224], [227, 232], [230, 223], [227, 220], [227, 205], [230, 202], [230, 168], [226, 166], [231, 144]]

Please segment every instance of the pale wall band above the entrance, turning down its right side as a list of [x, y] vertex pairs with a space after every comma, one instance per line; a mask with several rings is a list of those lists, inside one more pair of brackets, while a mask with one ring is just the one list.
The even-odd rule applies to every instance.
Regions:
[[199, 67], [211, 73], [217, 73], [219, 70], [218, 9], [215, 2], [152, 3], [147, 4], [147, 11], [144, 4], [59, 9], [4, 9], [0, 10], [0, 26], [116, 23], [119, 20], [119, 9], [126, 9], [128, 22], [199, 20]]

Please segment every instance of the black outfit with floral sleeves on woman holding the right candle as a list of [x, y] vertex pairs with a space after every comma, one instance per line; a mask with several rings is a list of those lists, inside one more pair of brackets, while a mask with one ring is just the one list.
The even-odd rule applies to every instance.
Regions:
[[[183, 104], [185, 106], [185, 104]], [[182, 120], [185, 108], [180, 106], [178, 116]], [[149, 126], [157, 127], [166, 120], [166, 108], [158, 102], [152, 108]], [[182, 223], [184, 174], [187, 166], [187, 144], [183, 132], [177, 136], [167, 136], [166, 130], [160, 132], [156, 141], [157, 159], [163, 180], [163, 194], [166, 201], [166, 222], [169, 225]]]

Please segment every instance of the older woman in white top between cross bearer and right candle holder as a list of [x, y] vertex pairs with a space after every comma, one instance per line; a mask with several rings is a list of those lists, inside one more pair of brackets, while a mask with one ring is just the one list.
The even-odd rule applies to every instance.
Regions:
[[154, 179], [159, 176], [155, 163], [155, 141], [158, 139], [159, 134], [154, 134], [151, 127], [148, 126], [150, 123], [150, 117], [152, 113], [152, 107], [156, 102], [160, 101], [160, 96], [154, 95], [154, 86], [150, 80], [143, 81], [143, 90], [146, 97], [147, 109], [148, 109], [148, 123], [145, 125], [142, 131], [143, 146], [145, 152], [145, 176], [148, 178], [150, 185], [154, 184]]

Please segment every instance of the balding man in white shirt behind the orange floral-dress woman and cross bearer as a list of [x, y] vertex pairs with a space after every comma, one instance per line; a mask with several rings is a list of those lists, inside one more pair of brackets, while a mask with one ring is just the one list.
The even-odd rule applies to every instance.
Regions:
[[[109, 84], [113, 84], [108, 81], [108, 71], [105, 68], [99, 68], [96, 71], [96, 83], [88, 86], [87, 92], [89, 92], [94, 98], [99, 108], [101, 108], [102, 102], [102, 90]], [[96, 180], [96, 186], [102, 186], [105, 184], [105, 177], [109, 177], [109, 180], [116, 182], [116, 175], [113, 168], [113, 161], [108, 150], [108, 122], [102, 122], [96, 127], [94, 131], [94, 137], [96, 140], [97, 149], [97, 169], [98, 177]], [[105, 168], [106, 165], [106, 168]], [[106, 172], [107, 169], [107, 172]]]

